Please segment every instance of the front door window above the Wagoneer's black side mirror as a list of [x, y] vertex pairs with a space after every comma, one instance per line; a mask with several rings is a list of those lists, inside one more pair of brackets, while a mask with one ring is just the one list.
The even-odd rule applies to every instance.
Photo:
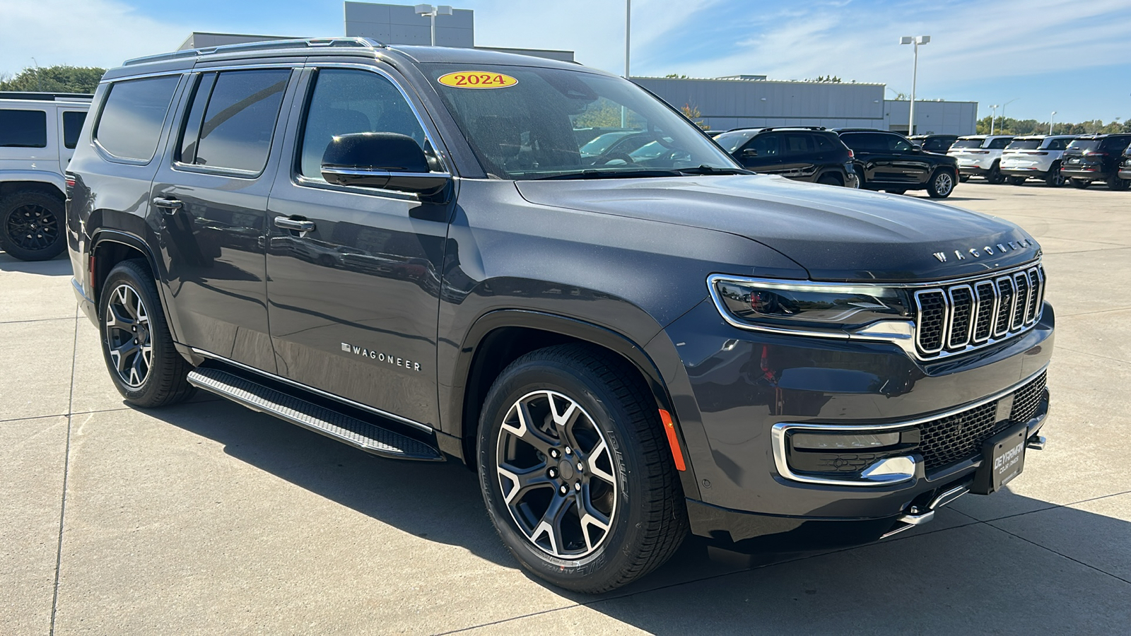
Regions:
[[[426, 146], [424, 130], [408, 102], [383, 76], [365, 70], [318, 71], [303, 128], [300, 174], [321, 180], [322, 154], [330, 138], [351, 132], [399, 132], [416, 139], [422, 148]], [[647, 139], [632, 141], [640, 147]], [[628, 138], [619, 140], [614, 148], [636, 149], [622, 147], [629, 143]]]

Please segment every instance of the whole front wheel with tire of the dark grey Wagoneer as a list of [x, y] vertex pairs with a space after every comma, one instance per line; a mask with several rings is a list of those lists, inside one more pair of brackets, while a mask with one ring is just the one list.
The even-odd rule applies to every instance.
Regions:
[[[520, 405], [543, 423], [519, 420]], [[604, 350], [553, 346], [507, 367], [480, 416], [478, 461], [499, 536], [527, 571], [560, 587], [625, 585], [664, 564], [688, 533], [656, 402]]]

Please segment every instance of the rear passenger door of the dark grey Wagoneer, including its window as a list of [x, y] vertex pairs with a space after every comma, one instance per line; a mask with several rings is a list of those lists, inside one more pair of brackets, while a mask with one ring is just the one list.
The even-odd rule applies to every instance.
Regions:
[[150, 194], [181, 341], [268, 372], [267, 196], [297, 63], [191, 74]]

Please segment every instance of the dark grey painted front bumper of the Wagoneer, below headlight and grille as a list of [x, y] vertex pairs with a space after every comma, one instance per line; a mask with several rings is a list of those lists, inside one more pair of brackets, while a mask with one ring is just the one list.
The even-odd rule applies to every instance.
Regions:
[[[698, 495], [688, 492], [692, 530], [735, 541], [823, 534], [815, 528], [847, 522], [862, 530], [845, 536], [863, 541], [890, 532], [910, 506], [973, 479], [981, 455], [930, 469], [916, 462], [914, 475], [898, 483], [806, 483], [778, 469], [775, 427], [905, 426], [972, 409], [1047, 367], [1054, 320], [1045, 304], [1028, 332], [960, 356], [921, 361], [891, 343], [750, 332], [726, 324], [709, 302], [693, 309], [661, 334], [682, 361], [670, 389], [698, 487]], [[1047, 402], [1043, 394], [1027, 423], [1030, 435], [1044, 423]], [[1008, 411], [992, 423], [1010, 419]]]

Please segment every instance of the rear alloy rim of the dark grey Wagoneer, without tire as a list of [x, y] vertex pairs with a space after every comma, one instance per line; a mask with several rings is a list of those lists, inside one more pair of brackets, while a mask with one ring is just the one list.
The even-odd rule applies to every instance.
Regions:
[[106, 306], [106, 351], [118, 378], [129, 388], [140, 388], [153, 364], [149, 312], [137, 290], [118, 285]]

